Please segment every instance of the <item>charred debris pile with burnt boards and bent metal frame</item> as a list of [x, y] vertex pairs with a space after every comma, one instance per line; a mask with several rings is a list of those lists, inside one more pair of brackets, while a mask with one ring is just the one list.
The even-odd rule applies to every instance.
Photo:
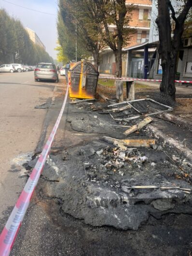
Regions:
[[191, 163], [146, 131], [172, 108], [151, 99], [112, 103], [71, 102], [67, 129], [89, 137], [67, 147], [67, 158], [50, 154], [43, 175], [59, 182], [47, 184], [48, 196], [93, 226], [137, 230], [150, 216], [191, 214]]

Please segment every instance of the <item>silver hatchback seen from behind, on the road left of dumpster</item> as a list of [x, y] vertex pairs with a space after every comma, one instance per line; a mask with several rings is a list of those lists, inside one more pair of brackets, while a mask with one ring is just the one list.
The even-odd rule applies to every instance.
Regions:
[[35, 68], [35, 82], [40, 80], [52, 80], [58, 83], [58, 71], [53, 63], [39, 63]]

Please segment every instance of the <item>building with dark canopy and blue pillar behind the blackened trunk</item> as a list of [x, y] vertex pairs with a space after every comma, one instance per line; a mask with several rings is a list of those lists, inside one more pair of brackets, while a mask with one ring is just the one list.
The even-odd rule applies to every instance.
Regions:
[[[175, 10], [182, 5], [182, 1], [171, 0]], [[191, 9], [192, 12], [192, 9]], [[134, 78], [162, 79], [161, 56], [156, 48], [159, 45], [158, 28], [155, 20], [158, 9], [155, 1], [152, 1], [151, 27], [149, 41], [143, 40], [139, 44], [129, 45], [124, 49], [127, 53], [126, 76]], [[187, 22], [189, 22], [187, 20]], [[188, 25], [186, 26], [187, 28]], [[192, 35], [183, 36], [178, 53], [176, 80], [192, 81]]]

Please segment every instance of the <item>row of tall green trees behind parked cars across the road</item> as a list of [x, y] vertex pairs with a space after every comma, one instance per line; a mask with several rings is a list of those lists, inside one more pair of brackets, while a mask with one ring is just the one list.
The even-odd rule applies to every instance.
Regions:
[[0, 64], [53, 62], [53, 58], [29, 38], [26, 29], [17, 19], [0, 9]]

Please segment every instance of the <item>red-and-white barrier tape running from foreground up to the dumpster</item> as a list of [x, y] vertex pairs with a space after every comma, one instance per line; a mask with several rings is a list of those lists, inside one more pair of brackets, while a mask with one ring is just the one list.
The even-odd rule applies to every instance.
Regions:
[[22, 220], [27, 211], [30, 199], [31, 199], [33, 192], [36, 188], [36, 185], [39, 181], [46, 158], [51, 149], [51, 145], [54, 141], [57, 128], [59, 126], [61, 117], [63, 115], [64, 109], [66, 106], [66, 102], [67, 102], [67, 98], [68, 98], [68, 91], [69, 91], [69, 85], [67, 86], [67, 91], [66, 91], [64, 102], [63, 102], [63, 106], [62, 106], [60, 114], [56, 120], [55, 126], [54, 126], [46, 144], [43, 147], [41, 155], [40, 155], [33, 171], [31, 172], [31, 175], [28, 178], [28, 181], [27, 181], [20, 197], [18, 198], [18, 200], [14, 206], [14, 209], [13, 209], [5, 227], [2, 230], [2, 233], [0, 234], [0, 256], [9, 256], [11, 249], [14, 245], [15, 238], [17, 236], [17, 233], [21, 226]]

